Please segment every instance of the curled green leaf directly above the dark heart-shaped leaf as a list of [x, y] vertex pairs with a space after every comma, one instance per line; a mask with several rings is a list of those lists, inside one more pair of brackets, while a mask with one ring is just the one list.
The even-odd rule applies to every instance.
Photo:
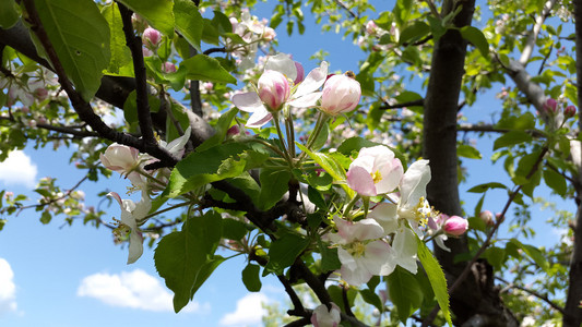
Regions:
[[168, 196], [176, 197], [207, 183], [237, 177], [266, 159], [269, 154], [240, 143], [226, 143], [191, 153], [171, 171]]

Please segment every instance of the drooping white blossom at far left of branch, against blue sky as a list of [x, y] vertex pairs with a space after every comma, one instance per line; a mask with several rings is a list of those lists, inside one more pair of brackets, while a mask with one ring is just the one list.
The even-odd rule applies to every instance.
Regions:
[[143, 253], [143, 237], [138, 225], [150, 213], [150, 209], [152, 208], [152, 199], [145, 194], [145, 192], [142, 193], [142, 199], [138, 203], [134, 203], [131, 199], [121, 199], [116, 192], [110, 192], [107, 195], [114, 197], [121, 207], [121, 218], [117, 221], [118, 228], [114, 230], [114, 235], [117, 241], [129, 235], [128, 265], [133, 264]]

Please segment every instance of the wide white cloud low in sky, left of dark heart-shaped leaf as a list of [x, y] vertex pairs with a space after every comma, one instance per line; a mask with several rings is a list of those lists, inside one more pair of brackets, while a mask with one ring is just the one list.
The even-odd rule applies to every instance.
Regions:
[[[140, 308], [154, 312], [174, 312], [173, 294], [159, 279], [135, 269], [121, 274], [93, 274], [81, 281], [79, 296], [99, 300], [111, 306]], [[210, 305], [190, 302], [180, 312], [209, 311]]]

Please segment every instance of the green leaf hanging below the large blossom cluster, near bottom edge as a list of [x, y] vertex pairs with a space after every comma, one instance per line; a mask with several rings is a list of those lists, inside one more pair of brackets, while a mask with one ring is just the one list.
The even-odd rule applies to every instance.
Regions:
[[408, 270], [396, 266], [396, 269], [387, 277], [388, 291], [401, 322], [406, 319], [420, 307], [423, 290], [418, 281]]

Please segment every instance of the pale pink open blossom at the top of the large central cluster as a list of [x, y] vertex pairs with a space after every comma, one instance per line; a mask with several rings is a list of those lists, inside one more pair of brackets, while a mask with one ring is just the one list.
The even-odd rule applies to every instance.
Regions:
[[359, 195], [376, 196], [396, 189], [403, 174], [402, 162], [388, 147], [365, 147], [349, 165], [347, 185]]

